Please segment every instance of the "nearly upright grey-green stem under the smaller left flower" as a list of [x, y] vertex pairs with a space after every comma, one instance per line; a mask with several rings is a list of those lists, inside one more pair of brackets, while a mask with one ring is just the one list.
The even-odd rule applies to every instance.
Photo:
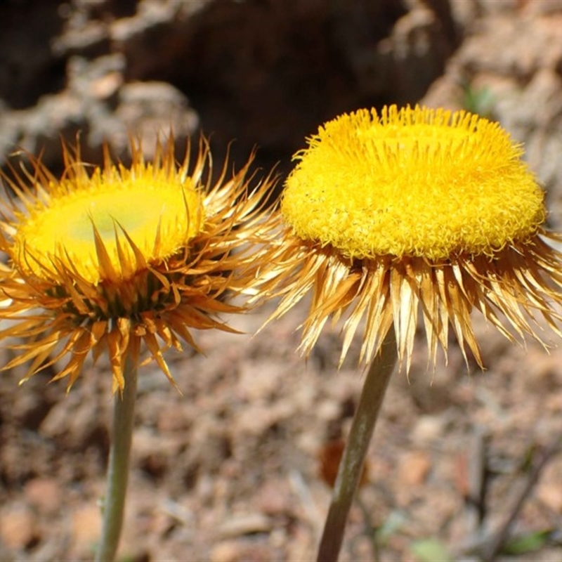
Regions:
[[136, 365], [127, 358], [124, 369], [125, 386], [122, 393], [115, 394], [107, 492], [103, 500], [103, 528], [96, 562], [114, 561], [119, 546], [133, 438], [136, 375]]

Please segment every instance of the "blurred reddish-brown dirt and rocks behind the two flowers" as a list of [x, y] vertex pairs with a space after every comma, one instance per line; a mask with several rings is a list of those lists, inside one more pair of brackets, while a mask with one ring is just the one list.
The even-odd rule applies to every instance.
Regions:
[[[235, 138], [235, 166], [257, 145], [256, 168], [279, 162], [283, 176], [339, 112], [421, 100], [524, 142], [562, 227], [558, 0], [4, 0], [0, 30], [2, 164], [20, 147], [60, 171], [60, 138], [78, 131], [91, 162], [104, 141], [126, 160], [128, 131], [150, 155], [172, 124], [178, 150], [212, 133], [218, 167]], [[306, 303], [251, 337], [274, 306], [229, 319], [246, 334], [196, 334], [205, 355], [170, 353], [181, 393], [143, 367], [120, 560], [314, 558], [330, 493], [320, 458], [349, 429], [358, 348], [338, 372], [336, 327], [300, 358]], [[549, 447], [562, 351], [474, 322], [485, 372], [455, 344], [427, 372], [420, 339], [410, 379], [393, 377], [342, 560], [374, 561], [377, 530], [381, 561], [478, 561], [512, 514], [495, 560], [561, 560], [562, 455]], [[89, 560], [110, 375], [101, 360], [67, 395], [48, 372], [18, 387], [21, 374], [0, 377], [0, 561]]]

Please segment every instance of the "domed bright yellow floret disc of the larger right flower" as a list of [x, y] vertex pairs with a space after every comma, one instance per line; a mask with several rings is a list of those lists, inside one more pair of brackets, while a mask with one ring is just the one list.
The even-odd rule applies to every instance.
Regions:
[[496, 123], [384, 107], [321, 127], [287, 179], [285, 221], [352, 258], [492, 255], [544, 223], [544, 195]]

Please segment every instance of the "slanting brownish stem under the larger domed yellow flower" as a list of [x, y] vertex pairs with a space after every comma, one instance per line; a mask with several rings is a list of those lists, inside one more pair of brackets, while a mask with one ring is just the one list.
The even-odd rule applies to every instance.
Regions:
[[388, 330], [381, 349], [374, 358], [361, 391], [359, 405], [353, 417], [344, 455], [339, 463], [338, 476], [332, 492], [332, 502], [318, 547], [318, 562], [336, 562], [351, 503], [357, 490], [365, 463], [365, 455], [381, 409], [388, 381], [396, 365], [396, 334]]

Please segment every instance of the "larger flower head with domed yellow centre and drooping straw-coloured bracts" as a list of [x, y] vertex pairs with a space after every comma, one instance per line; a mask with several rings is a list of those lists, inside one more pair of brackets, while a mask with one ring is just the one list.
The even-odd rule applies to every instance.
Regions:
[[511, 340], [541, 341], [539, 317], [562, 335], [562, 255], [547, 243], [561, 237], [544, 230], [544, 195], [521, 154], [498, 124], [464, 111], [393, 105], [320, 127], [282, 196], [274, 317], [312, 289], [305, 353], [343, 317], [343, 362], [364, 320], [360, 360], [393, 325], [407, 370], [419, 315], [433, 365], [450, 329], [482, 365], [473, 309]]

